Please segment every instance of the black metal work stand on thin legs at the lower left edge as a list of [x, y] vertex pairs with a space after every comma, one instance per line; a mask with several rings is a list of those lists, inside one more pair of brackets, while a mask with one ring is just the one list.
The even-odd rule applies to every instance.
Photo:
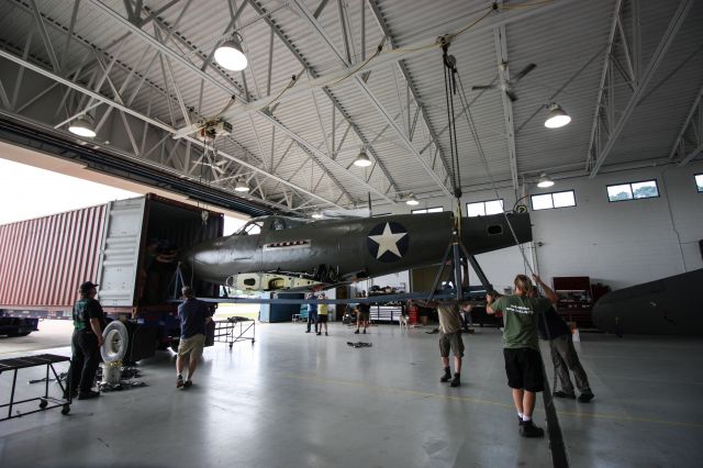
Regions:
[[[60, 379], [58, 378], [58, 375], [56, 374], [56, 369], [54, 369], [54, 364], [57, 364], [57, 363], [70, 363], [70, 358], [66, 356], [57, 356], [53, 354], [42, 354], [37, 356], [25, 356], [25, 357], [16, 357], [11, 359], [0, 360], [0, 375], [4, 371], [10, 371], [10, 370], [14, 371], [14, 374], [12, 375], [12, 390], [10, 391], [10, 402], [5, 404], [0, 404], [0, 408], [5, 408], [5, 406], [8, 408], [8, 416], [0, 419], [0, 421], [10, 420], [12, 417], [20, 417], [26, 414], [37, 413], [40, 411], [48, 410], [52, 408], [58, 408], [58, 406], [62, 406], [62, 414], [68, 414], [68, 412], [70, 411], [71, 395], [68, 389], [64, 388], [64, 385], [62, 383]], [[16, 389], [18, 370], [25, 369], [29, 367], [36, 367], [36, 366], [46, 366], [46, 378], [44, 379], [46, 382], [44, 387], [44, 397], [36, 397], [36, 398], [30, 398], [26, 400], [15, 401], [14, 390]], [[49, 381], [48, 370], [49, 369], [52, 369], [52, 372], [54, 372], [56, 382], [62, 389], [62, 394], [66, 397], [65, 399], [58, 399], [58, 398], [48, 395], [48, 381]], [[68, 382], [66, 387], [68, 387]], [[27, 411], [25, 413], [18, 412], [16, 415], [14, 416], [12, 415], [12, 406], [15, 406], [21, 403], [27, 403], [34, 400], [38, 400], [40, 402], [38, 410]], [[48, 405], [49, 402], [54, 404], [49, 406]]]

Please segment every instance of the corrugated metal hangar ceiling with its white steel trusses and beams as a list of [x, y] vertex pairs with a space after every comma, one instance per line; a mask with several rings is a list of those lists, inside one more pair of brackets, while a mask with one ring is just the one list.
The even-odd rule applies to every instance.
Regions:
[[[0, 0], [0, 13], [2, 130], [158, 168], [252, 214], [517, 191], [540, 172], [703, 149], [695, 0]], [[213, 59], [235, 33], [243, 71]], [[544, 126], [550, 103], [569, 125]], [[68, 132], [83, 115], [96, 138]], [[216, 118], [231, 134], [199, 137]]]

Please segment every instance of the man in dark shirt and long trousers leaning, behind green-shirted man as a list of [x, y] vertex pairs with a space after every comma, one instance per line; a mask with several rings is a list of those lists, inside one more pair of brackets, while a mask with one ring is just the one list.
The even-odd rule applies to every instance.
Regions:
[[[537, 290], [533, 288], [529, 296], [537, 297]], [[553, 394], [558, 398], [576, 398], [568, 370], [571, 369], [576, 386], [581, 392], [579, 401], [588, 403], [593, 400], [589, 378], [585, 376], [585, 370], [583, 370], [579, 361], [579, 355], [573, 347], [571, 328], [569, 328], [569, 325], [559, 316], [555, 308], [549, 308], [549, 310], [545, 312], [544, 320], [537, 322], [537, 330], [539, 331], [540, 339], [549, 341], [554, 371], [559, 377], [561, 390], [555, 390]]]

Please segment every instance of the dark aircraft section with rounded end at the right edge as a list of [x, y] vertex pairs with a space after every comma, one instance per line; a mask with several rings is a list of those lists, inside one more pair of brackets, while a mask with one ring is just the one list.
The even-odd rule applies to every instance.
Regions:
[[609, 333], [703, 335], [701, 285], [703, 268], [609, 292], [593, 307], [593, 324]]

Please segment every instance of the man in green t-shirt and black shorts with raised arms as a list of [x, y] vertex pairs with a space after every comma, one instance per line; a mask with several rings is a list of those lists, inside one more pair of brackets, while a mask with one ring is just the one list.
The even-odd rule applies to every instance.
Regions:
[[486, 311], [489, 314], [503, 312], [503, 357], [507, 386], [513, 389], [513, 402], [520, 419], [520, 434], [524, 437], [542, 437], [545, 432], [532, 421], [537, 392], [543, 390], [542, 356], [537, 341], [539, 314], [557, 303], [557, 294], [537, 275], [533, 275], [545, 296], [529, 298], [532, 281], [525, 275], [515, 277], [515, 293], [498, 298], [495, 293], [486, 296]]

